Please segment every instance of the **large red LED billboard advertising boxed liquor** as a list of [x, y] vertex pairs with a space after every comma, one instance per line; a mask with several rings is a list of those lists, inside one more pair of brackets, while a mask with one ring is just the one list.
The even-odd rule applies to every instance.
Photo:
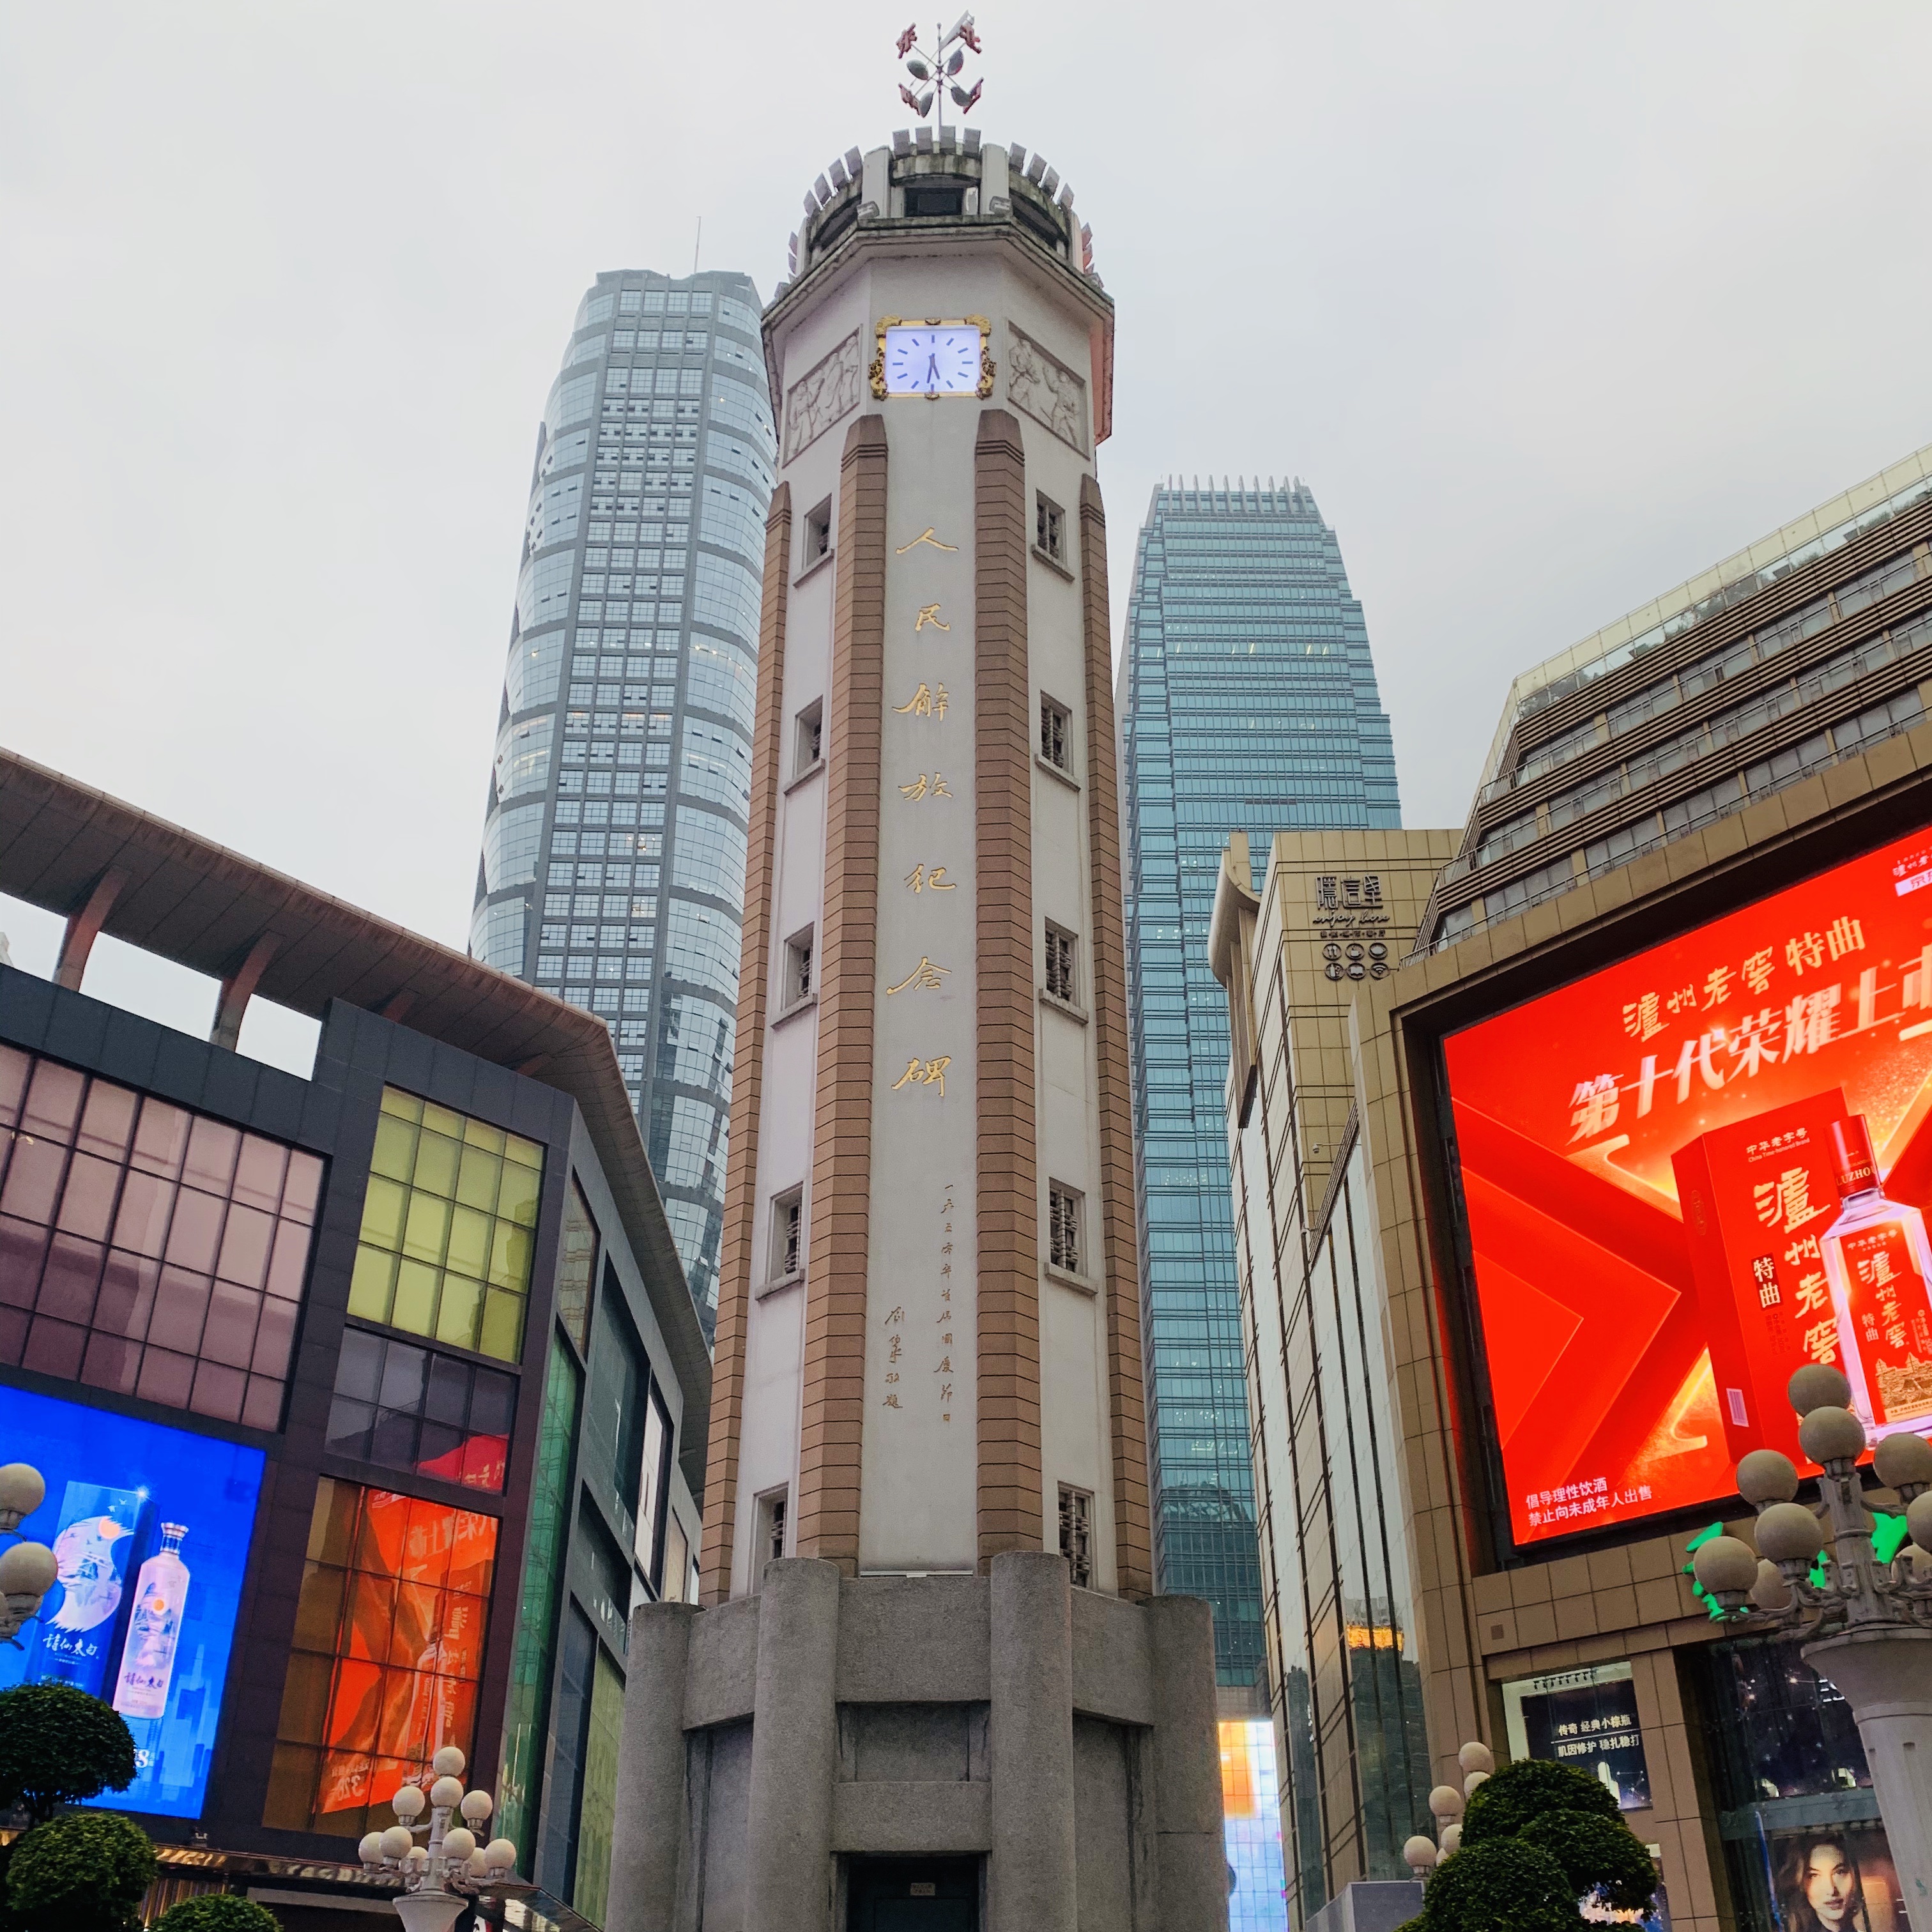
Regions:
[[1803, 1362], [1932, 1428], [1932, 833], [1443, 1051], [1519, 1544], [1797, 1457]]

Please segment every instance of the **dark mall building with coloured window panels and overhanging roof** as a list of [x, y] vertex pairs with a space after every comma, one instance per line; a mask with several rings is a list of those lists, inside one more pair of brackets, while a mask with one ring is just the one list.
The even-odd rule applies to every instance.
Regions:
[[[692, 1594], [711, 1385], [607, 1024], [4, 752], [0, 893], [66, 922], [52, 978], [0, 966], [0, 1461], [75, 1578], [0, 1687], [122, 1708], [100, 1803], [164, 1888], [381, 1932], [355, 1841], [458, 1745], [518, 1922], [601, 1922], [628, 1619]], [[89, 997], [100, 935], [218, 981], [213, 1037]], [[238, 1051], [257, 997], [319, 1020], [307, 1078]]]

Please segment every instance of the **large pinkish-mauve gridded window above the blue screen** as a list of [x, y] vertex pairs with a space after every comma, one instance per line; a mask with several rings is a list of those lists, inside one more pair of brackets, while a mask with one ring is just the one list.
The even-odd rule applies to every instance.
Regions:
[[0, 1047], [0, 1362], [272, 1430], [323, 1161]]

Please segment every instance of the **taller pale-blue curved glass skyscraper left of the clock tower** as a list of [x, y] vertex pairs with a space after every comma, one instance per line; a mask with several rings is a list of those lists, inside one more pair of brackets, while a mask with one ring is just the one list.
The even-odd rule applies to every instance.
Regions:
[[601, 1014], [717, 1308], [777, 439], [742, 274], [601, 274], [529, 483], [469, 951]]

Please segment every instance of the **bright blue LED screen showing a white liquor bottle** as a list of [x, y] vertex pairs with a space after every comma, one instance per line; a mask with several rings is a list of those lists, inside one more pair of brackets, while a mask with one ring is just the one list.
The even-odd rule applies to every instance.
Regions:
[[0, 1389], [0, 1451], [46, 1478], [19, 1532], [60, 1580], [0, 1646], [0, 1689], [71, 1683], [128, 1719], [135, 1779], [93, 1803], [199, 1818], [214, 1762], [263, 1453]]

